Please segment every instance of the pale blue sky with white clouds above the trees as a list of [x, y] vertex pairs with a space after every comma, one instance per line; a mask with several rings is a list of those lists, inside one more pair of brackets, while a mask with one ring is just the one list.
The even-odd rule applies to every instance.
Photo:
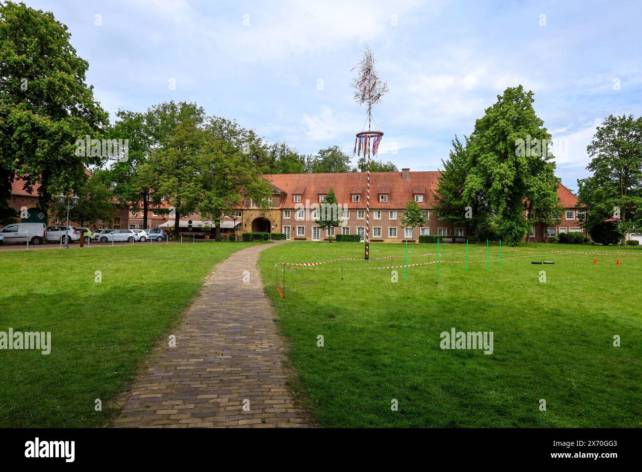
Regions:
[[[373, 112], [379, 160], [438, 170], [507, 87], [534, 92], [556, 175], [587, 177], [609, 114], [642, 115], [639, 1], [26, 0], [51, 11], [119, 109], [196, 101], [301, 153], [352, 155], [367, 127], [351, 82], [363, 44], [388, 83]], [[356, 163], [356, 159], [353, 159]]]

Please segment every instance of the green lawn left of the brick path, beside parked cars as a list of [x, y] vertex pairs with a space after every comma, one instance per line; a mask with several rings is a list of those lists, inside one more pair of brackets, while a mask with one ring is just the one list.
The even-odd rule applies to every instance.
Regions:
[[[0, 351], [0, 427], [101, 426], [213, 266], [248, 243], [0, 252], [0, 331], [51, 331], [51, 353]], [[95, 272], [102, 281], [96, 283]], [[103, 410], [94, 411], [101, 399]]]

